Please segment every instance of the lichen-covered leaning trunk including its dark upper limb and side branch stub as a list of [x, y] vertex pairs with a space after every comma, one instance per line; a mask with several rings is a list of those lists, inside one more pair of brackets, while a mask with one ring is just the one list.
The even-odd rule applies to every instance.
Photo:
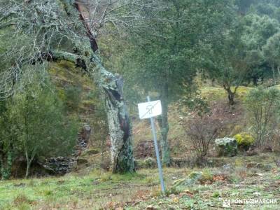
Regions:
[[[123, 78], [118, 74], [113, 74], [107, 71], [102, 62], [97, 56], [98, 45], [94, 33], [90, 26], [86, 15], [83, 14], [84, 7], [87, 4], [80, 3], [80, 1], [63, 1], [66, 6], [67, 13], [75, 12], [75, 10], [68, 9], [69, 3], [76, 8], [80, 21], [85, 27], [85, 32], [89, 40], [90, 48], [92, 49], [92, 58], [90, 62], [80, 62], [80, 57], [66, 53], [62, 55], [59, 53], [60, 58], [73, 60], [76, 64], [85, 64], [84, 68], [92, 76], [94, 83], [102, 91], [105, 102], [105, 109], [109, 122], [109, 132], [111, 139], [111, 160], [113, 173], [126, 173], [134, 172], [134, 158], [132, 153], [132, 132], [130, 118], [128, 116], [127, 107], [123, 98]], [[75, 15], [75, 14], [71, 14]]]

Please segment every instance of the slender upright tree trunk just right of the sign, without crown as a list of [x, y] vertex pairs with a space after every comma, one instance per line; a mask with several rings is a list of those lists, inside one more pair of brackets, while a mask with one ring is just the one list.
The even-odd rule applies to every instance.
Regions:
[[170, 148], [168, 144], [168, 86], [167, 84], [163, 85], [160, 99], [162, 102], [162, 116], [159, 120], [160, 125], [160, 147], [162, 151], [162, 165], [169, 166], [170, 165]]

